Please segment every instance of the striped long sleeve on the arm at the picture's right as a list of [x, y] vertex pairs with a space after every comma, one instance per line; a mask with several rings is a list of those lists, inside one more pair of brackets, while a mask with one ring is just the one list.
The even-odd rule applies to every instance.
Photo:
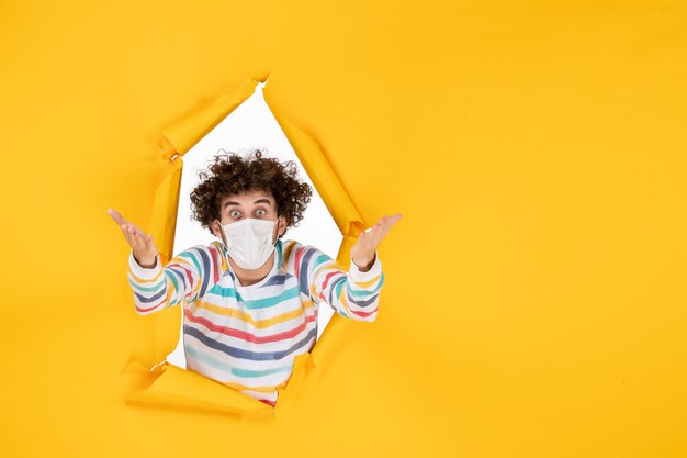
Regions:
[[[373, 322], [376, 319], [384, 284], [382, 261], [376, 253], [374, 264], [367, 272], [361, 272], [352, 259], [346, 272], [340, 264], [313, 246], [303, 247], [299, 255], [300, 282], [307, 286], [314, 302], [326, 302], [341, 316], [351, 320]], [[307, 273], [304, 276], [304, 272]]]

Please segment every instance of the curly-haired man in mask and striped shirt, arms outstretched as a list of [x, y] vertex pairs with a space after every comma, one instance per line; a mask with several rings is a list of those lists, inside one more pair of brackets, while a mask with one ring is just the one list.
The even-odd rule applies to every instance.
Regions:
[[108, 213], [132, 246], [128, 281], [136, 312], [183, 304], [187, 368], [274, 406], [296, 356], [312, 350], [327, 303], [345, 317], [376, 319], [384, 283], [376, 247], [401, 214], [360, 234], [348, 272], [284, 232], [303, 219], [312, 190], [295, 164], [256, 152], [215, 157], [191, 193], [193, 217], [217, 241], [160, 266], [151, 235]]

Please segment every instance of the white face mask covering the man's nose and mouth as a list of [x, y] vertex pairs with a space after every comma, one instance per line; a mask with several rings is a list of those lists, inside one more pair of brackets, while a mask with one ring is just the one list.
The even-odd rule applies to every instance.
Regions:
[[258, 269], [267, 262], [275, 245], [272, 244], [274, 224], [279, 221], [247, 217], [222, 226], [227, 254], [244, 269]]

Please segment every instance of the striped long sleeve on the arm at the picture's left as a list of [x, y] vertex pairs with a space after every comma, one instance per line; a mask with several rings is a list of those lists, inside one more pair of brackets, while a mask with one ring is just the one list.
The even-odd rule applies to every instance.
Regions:
[[196, 245], [181, 252], [167, 266], [159, 256], [154, 268], [143, 268], [129, 253], [127, 278], [134, 292], [136, 313], [147, 315], [176, 305], [182, 300], [192, 303], [219, 281], [223, 257], [213, 245]]

